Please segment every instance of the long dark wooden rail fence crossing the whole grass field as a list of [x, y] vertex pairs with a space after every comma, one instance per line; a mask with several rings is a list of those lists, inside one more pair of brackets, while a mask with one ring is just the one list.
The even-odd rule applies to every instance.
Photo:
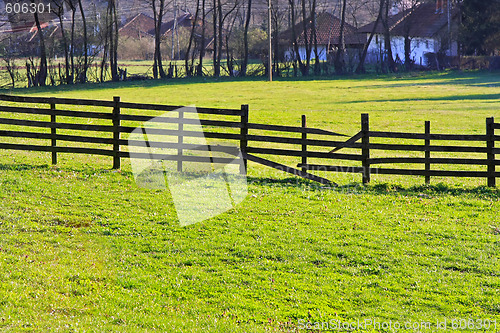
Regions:
[[[500, 161], [495, 159], [500, 154], [500, 149], [495, 148], [495, 141], [499, 136], [495, 135], [495, 129], [500, 129], [500, 124], [494, 122], [493, 118], [486, 120], [486, 134], [484, 135], [454, 135], [454, 134], [432, 134], [430, 122], [425, 122], [423, 133], [402, 133], [370, 130], [367, 114], [362, 115], [361, 131], [349, 137], [329, 130], [307, 127], [306, 117], [302, 116], [302, 126], [281, 126], [270, 124], [258, 124], [249, 122], [248, 106], [242, 105], [240, 109], [220, 108], [196, 108], [186, 109], [182, 106], [137, 104], [122, 102], [119, 97], [113, 101], [81, 100], [67, 98], [45, 98], [45, 97], [21, 97], [11, 95], [0, 95], [0, 112], [10, 115], [30, 114], [40, 118], [48, 116], [43, 120], [28, 120], [14, 118], [0, 118], [0, 124], [7, 126], [21, 126], [29, 128], [50, 129], [49, 132], [32, 132], [25, 130], [0, 130], [0, 137], [28, 138], [48, 140], [49, 145], [0, 143], [0, 149], [46, 151], [52, 154], [52, 163], [57, 163], [59, 153], [77, 153], [110, 156], [113, 159], [113, 168], [121, 167], [121, 159], [131, 156], [129, 151], [121, 147], [140, 146], [141, 142], [126, 140], [122, 134], [132, 133], [137, 128], [137, 123], [155, 122], [177, 124], [176, 129], [152, 129], [161, 136], [173, 138], [172, 142], [164, 140], [149, 142], [153, 148], [169, 148], [176, 150], [175, 154], [134, 154], [134, 158], [154, 158], [158, 160], [177, 161], [178, 169], [182, 170], [183, 162], [210, 162], [227, 163], [227, 158], [207, 158], [187, 154], [199, 150], [199, 145], [187, 143], [184, 139], [189, 137], [205, 137], [220, 139], [223, 142], [231, 142], [239, 146], [244, 157], [241, 172], [245, 173], [247, 161], [253, 161], [271, 168], [282, 170], [309, 180], [322, 184], [332, 184], [331, 181], [312, 174], [312, 171], [332, 171], [361, 173], [363, 183], [370, 181], [372, 174], [389, 175], [416, 175], [425, 177], [426, 183], [431, 177], [481, 177], [486, 178], [488, 186], [495, 186], [496, 165]], [[21, 104], [22, 103], [22, 104]], [[25, 106], [28, 105], [28, 106]], [[44, 107], [46, 105], [47, 107]], [[68, 108], [85, 107], [84, 111], [67, 110]], [[92, 110], [98, 108], [98, 110]], [[90, 109], [90, 110], [89, 110]], [[102, 110], [109, 110], [103, 112]], [[140, 111], [142, 114], [130, 113], [130, 110]], [[124, 112], [126, 111], [126, 112]], [[155, 116], [147, 113], [158, 111], [175, 111], [177, 116], [168, 117]], [[197, 112], [203, 115], [200, 120], [189, 119], [184, 113]], [[205, 119], [205, 118], [217, 119]], [[221, 120], [221, 117], [223, 118]], [[63, 118], [63, 121], [61, 121]], [[72, 121], [64, 121], [65, 119]], [[75, 121], [76, 119], [76, 121]], [[88, 124], [78, 122], [78, 119], [98, 120], [106, 124]], [[186, 130], [183, 124], [196, 124], [198, 122], [207, 127], [206, 130]], [[64, 130], [64, 131], [63, 131]], [[84, 133], [98, 133], [100, 136], [66, 134], [67, 131], [78, 131]], [[149, 130], [148, 130], [149, 131]], [[107, 136], [106, 136], [107, 135]], [[103, 137], [105, 136], [105, 137]], [[348, 139], [340, 140], [341, 137]], [[335, 140], [334, 140], [335, 139]], [[392, 139], [391, 143], [379, 143], [374, 140]], [[395, 144], [394, 139], [417, 140], [421, 143]], [[436, 143], [449, 141], [466, 142], [467, 145], [440, 145]], [[72, 142], [77, 144], [105, 145], [105, 148], [62, 146], [59, 142]], [[470, 145], [470, 143], [476, 143]], [[481, 144], [478, 144], [481, 143]], [[274, 146], [273, 146], [274, 145]], [[218, 149], [230, 148], [230, 146], [217, 146]], [[293, 149], [295, 148], [295, 149]], [[357, 153], [340, 153], [342, 149], [349, 149]], [[405, 151], [422, 153], [422, 157], [373, 157], [375, 152]], [[444, 158], [432, 157], [433, 153], [477, 153], [484, 158]], [[257, 156], [261, 155], [261, 156]], [[262, 156], [264, 155], [264, 156]], [[296, 166], [287, 166], [284, 163], [272, 161], [271, 157], [288, 156], [299, 159]], [[321, 163], [314, 163], [315, 161]], [[358, 164], [356, 166], [334, 165], [335, 161], [349, 161]], [[312, 161], [312, 163], [311, 163]], [[324, 162], [323, 162], [324, 161]], [[377, 165], [388, 164], [411, 164], [421, 165], [421, 169], [403, 168], [381, 168]], [[486, 167], [486, 171], [473, 170], [435, 170], [433, 165], [468, 165]]]

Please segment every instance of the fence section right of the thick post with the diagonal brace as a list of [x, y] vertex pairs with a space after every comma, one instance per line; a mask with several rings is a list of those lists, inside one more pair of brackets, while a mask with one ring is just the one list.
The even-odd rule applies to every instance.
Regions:
[[[356, 148], [361, 151], [357, 155], [361, 161], [361, 167], [345, 167], [334, 165], [307, 164], [303, 161], [298, 166], [305, 170], [322, 170], [333, 172], [351, 172], [362, 173], [363, 184], [370, 182], [371, 174], [386, 175], [412, 175], [424, 176], [426, 184], [429, 184], [431, 177], [470, 177], [486, 178], [488, 186], [496, 186], [496, 178], [500, 177], [500, 172], [496, 172], [496, 166], [500, 160], [495, 159], [496, 154], [500, 154], [500, 149], [495, 148], [495, 141], [500, 140], [500, 136], [495, 135], [495, 129], [500, 129], [500, 124], [494, 122], [494, 118], [486, 119], [486, 134], [484, 135], [465, 135], [465, 134], [431, 134], [430, 122], [425, 122], [424, 133], [403, 133], [387, 131], [371, 131], [368, 114], [361, 115], [361, 131], [354, 135], [346, 143], [339, 145], [332, 150], [338, 151], [342, 148]], [[422, 144], [393, 144], [393, 143], [373, 143], [372, 138], [390, 138], [390, 139], [411, 139], [421, 140]], [[361, 140], [360, 143], [357, 141]], [[465, 142], [467, 144], [475, 142], [476, 145], [440, 145], [431, 144], [432, 142]], [[481, 142], [484, 146], [477, 143]], [[307, 148], [303, 148], [307, 150]], [[405, 152], [423, 152], [424, 157], [381, 157], [371, 158], [373, 151], [405, 151]], [[476, 153], [482, 154], [484, 158], [445, 158], [431, 157], [431, 153]], [[352, 156], [351, 156], [352, 157]], [[354, 158], [353, 158], [354, 159]], [[374, 168], [373, 165], [380, 164], [421, 164], [421, 169], [402, 169], [402, 168]], [[471, 170], [432, 170], [432, 165], [469, 165], [486, 166], [486, 171]]]

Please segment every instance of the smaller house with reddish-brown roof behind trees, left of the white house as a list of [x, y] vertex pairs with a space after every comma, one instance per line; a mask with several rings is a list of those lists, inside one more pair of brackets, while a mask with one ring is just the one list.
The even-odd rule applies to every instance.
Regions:
[[[316, 16], [316, 40], [318, 43], [318, 55], [321, 61], [328, 60], [330, 54], [339, 46], [341, 20], [327, 12], [323, 12]], [[311, 45], [314, 45], [312, 19], [307, 21], [306, 29], [304, 29], [303, 21], [295, 25], [295, 34], [300, 54], [300, 59], [305, 60], [306, 56], [306, 37]], [[293, 45], [292, 29], [283, 32], [280, 39], [288, 41], [287, 45]], [[357, 33], [355, 27], [345, 22], [344, 24], [344, 43], [346, 49], [362, 49], [365, 40], [363, 36]], [[289, 59], [294, 57], [292, 48], [285, 52], [285, 56]], [[314, 46], [311, 48], [311, 60], [316, 59]]]

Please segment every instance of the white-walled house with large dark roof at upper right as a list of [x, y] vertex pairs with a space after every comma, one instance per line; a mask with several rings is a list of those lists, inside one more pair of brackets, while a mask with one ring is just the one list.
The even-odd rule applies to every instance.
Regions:
[[[459, 10], [447, 7], [446, 0], [418, 4], [388, 19], [391, 50], [396, 61], [405, 61], [405, 49], [413, 63], [430, 65], [430, 54], [458, 55], [457, 31]], [[375, 22], [358, 31], [367, 36]], [[405, 47], [406, 45], [406, 47]], [[385, 56], [384, 26], [377, 24], [373, 39], [368, 46], [367, 62], [377, 62]]]

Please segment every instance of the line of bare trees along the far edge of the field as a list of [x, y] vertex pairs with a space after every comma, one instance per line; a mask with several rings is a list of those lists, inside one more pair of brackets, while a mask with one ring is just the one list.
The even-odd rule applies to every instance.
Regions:
[[[462, 55], [497, 52], [500, 0], [443, 1], [460, 9], [457, 40]], [[1, 71], [11, 86], [267, 75], [268, 17], [275, 75], [366, 71], [368, 44], [375, 29], [362, 35], [366, 43], [361, 48], [349, 50], [345, 39], [348, 25], [358, 28], [369, 22], [382, 27], [388, 41], [377, 68], [410, 70], [397, 65], [389, 26], [391, 15], [421, 2], [425, 1], [271, 0], [268, 12], [266, 0], [5, 0], [0, 8]], [[50, 4], [50, 13], [9, 13], [6, 5], [13, 3]], [[340, 31], [338, 46], [331, 48], [326, 60], [320, 60], [316, 18], [325, 12], [340, 19]], [[140, 13], [152, 20], [151, 29], [137, 31], [137, 38], [123, 36], [120, 29]], [[303, 31], [308, 33], [299, 37]], [[143, 75], [127, 74], [127, 68], [119, 64], [131, 59], [148, 60], [141, 63]]]

